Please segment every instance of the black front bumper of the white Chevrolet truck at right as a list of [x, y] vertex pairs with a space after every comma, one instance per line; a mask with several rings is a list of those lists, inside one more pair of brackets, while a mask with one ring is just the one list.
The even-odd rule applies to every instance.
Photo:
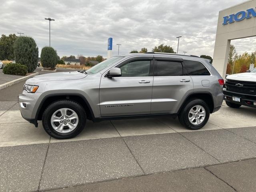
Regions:
[[[256, 105], [254, 105], [256, 104], [256, 95], [248, 95], [248, 94], [232, 92], [232, 91], [228, 91], [226, 88], [223, 88], [223, 94], [224, 94], [225, 101], [256, 108]], [[233, 101], [232, 100], [233, 97], [240, 98], [240, 102]]]

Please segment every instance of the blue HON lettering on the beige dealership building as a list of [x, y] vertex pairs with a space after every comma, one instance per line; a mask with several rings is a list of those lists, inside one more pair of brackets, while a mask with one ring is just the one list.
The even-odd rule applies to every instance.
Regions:
[[256, 17], [256, 12], [255, 12], [254, 8], [250, 8], [246, 11], [240, 11], [240, 12], [237, 12], [236, 14], [231, 14], [229, 16], [223, 17], [224, 20], [223, 20], [222, 25], [226, 25], [228, 23], [234, 23], [235, 21], [242, 21], [245, 18], [249, 19], [252, 16]]

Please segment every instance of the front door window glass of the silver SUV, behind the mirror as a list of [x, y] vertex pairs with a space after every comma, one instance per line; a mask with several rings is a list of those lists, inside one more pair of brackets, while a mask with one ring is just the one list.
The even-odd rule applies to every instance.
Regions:
[[146, 77], [149, 75], [150, 61], [132, 61], [120, 67], [122, 77]]

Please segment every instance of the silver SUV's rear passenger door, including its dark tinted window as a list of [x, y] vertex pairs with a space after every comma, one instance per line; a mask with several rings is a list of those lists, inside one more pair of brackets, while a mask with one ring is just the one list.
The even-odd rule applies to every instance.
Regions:
[[182, 98], [194, 90], [182, 58], [154, 58], [151, 113], [176, 113]]

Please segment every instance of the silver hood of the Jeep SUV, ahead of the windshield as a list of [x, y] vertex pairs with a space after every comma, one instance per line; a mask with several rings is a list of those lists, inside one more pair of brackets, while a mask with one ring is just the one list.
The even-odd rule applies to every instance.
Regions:
[[73, 71], [73, 72], [57, 72], [57, 73], [48, 73], [43, 75], [34, 76], [26, 81], [26, 84], [34, 85], [38, 82], [46, 81], [61, 81], [61, 80], [76, 80], [85, 78], [87, 75]]

